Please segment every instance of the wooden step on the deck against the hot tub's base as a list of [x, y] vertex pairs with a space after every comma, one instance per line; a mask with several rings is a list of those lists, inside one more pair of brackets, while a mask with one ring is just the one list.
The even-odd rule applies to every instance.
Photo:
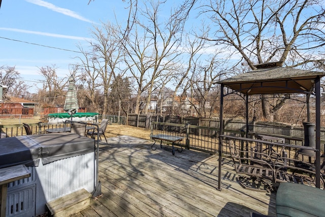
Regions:
[[72, 194], [46, 203], [49, 216], [69, 216], [86, 209], [90, 205], [91, 194], [81, 189]]

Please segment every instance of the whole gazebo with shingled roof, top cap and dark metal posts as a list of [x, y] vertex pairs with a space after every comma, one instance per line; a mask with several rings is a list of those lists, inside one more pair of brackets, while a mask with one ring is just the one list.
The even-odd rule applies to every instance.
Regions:
[[[303, 94], [306, 95], [307, 116], [309, 121], [309, 97], [315, 97], [315, 170], [316, 187], [320, 188], [320, 78], [325, 73], [284, 68], [278, 63], [265, 63], [255, 66], [257, 69], [219, 81], [220, 84], [220, 131], [223, 134], [223, 97], [230, 93], [244, 95], [246, 101], [246, 138], [248, 137], [248, 100], [253, 95]], [[231, 89], [224, 93], [224, 89]], [[222, 139], [219, 136], [219, 186], [221, 184]]]

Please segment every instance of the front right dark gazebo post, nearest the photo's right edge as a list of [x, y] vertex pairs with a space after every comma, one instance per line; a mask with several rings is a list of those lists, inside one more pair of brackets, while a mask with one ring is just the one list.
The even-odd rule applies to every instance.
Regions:
[[316, 95], [316, 188], [320, 188], [320, 76], [315, 79], [315, 95]]

